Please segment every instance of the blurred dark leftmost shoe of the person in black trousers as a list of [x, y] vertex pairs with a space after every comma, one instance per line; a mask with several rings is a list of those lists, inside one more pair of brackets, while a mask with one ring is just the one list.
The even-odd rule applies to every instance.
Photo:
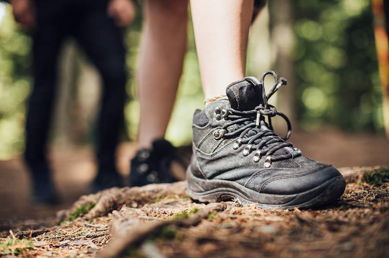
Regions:
[[59, 198], [55, 191], [55, 185], [50, 174], [33, 175], [33, 204], [57, 205]]

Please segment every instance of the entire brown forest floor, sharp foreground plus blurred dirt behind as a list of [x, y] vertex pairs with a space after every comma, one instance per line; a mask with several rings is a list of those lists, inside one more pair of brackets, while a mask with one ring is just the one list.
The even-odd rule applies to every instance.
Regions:
[[[110, 189], [77, 200], [88, 194], [93, 156], [88, 148], [57, 149], [51, 157], [64, 203], [48, 208], [29, 204], [29, 177], [21, 160], [1, 161], [0, 255], [388, 256], [389, 167], [371, 166], [389, 164], [389, 141], [333, 130], [292, 137], [306, 156], [337, 167], [370, 167], [342, 168], [346, 192], [321, 210], [269, 211], [236, 201], [194, 203], [185, 193], [185, 182]], [[121, 146], [124, 175], [133, 153], [133, 145]]]

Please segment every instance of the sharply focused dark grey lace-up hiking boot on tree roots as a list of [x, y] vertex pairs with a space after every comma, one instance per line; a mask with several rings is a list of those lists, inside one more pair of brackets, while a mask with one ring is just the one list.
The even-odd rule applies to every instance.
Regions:
[[[276, 81], [265, 95], [264, 79]], [[193, 118], [193, 152], [187, 170], [188, 194], [199, 201], [239, 199], [264, 208], [311, 208], [336, 200], [346, 182], [333, 166], [301, 155], [285, 142], [289, 119], [267, 103], [286, 84], [274, 72], [261, 81], [248, 77], [231, 83], [228, 100], [196, 110]], [[280, 115], [288, 125], [281, 138], [271, 126]], [[265, 123], [265, 116], [268, 123]]]

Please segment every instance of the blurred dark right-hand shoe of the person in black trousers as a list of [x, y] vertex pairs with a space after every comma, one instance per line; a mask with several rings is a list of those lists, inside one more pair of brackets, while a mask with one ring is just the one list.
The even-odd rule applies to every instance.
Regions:
[[91, 184], [91, 192], [97, 193], [112, 187], [123, 187], [123, 180], [116, 168], [106, 169], [100, 167], [97, 176]]

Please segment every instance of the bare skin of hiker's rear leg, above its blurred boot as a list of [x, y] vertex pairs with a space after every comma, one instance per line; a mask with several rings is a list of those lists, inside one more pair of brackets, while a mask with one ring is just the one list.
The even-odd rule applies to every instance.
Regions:
[[188, 1], [145, 0], [140, 64], [139, 147], [165, 135], [186, 52]]

